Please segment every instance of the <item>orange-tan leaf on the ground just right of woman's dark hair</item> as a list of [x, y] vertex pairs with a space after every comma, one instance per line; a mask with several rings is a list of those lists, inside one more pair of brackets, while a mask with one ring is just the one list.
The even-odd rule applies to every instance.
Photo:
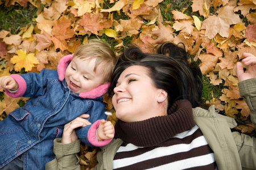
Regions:
[[201, 60], [199, 67], [203, 74], [207, 74], [210, 73], [210, 71], [213, 71], [218, 61], [217, 56], [205, 53], [200, 54], [199, 59]]

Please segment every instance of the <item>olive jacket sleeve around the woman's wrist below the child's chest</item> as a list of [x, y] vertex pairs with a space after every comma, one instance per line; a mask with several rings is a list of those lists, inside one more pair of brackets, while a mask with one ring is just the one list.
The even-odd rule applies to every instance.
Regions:
[[76, 155], [80, 151], [80, 141], [69, 144], [61, 143], [61, 138], [54, 140], [53, 152], [56, 158], [46, 164], [47, 170], [80, 170], [79, 157]]

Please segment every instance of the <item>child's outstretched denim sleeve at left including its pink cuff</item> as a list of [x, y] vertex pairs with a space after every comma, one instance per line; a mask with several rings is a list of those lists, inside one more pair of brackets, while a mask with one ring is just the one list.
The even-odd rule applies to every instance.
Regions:
[[14, 93], [6, 90], [6, 94], [11, 97], [36, 97], [44, 95], [47, 83], [52, 77], [57, 78], [56, 70], [43, 69], [40, 73], [31, 72], [27, 74], [10, 75], [18, 83], [18, 90]]

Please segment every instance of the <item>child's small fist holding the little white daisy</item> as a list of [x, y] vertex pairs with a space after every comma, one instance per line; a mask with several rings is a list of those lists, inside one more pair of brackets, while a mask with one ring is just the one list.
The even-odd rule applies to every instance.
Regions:
[[104, 141], [112, 138], [114, 138], [114, 125], [112, 122], [102, 119], [97, 131], [98, 141]]

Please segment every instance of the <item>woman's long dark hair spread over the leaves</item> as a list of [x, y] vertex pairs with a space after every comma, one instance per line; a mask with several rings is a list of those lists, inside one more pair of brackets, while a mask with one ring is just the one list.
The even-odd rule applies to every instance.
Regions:
[[167, 92], [169, 107], [176, 100], [181, 99], [189, 100], [193, 108], [198, 107], [202, 101], [202, 74], [199, 66], [188, 62], [184, 45], [182, 48], [166, 42], [158, 46], [155, 51], [155, 54], [143, 53], [138, 46], [127, 45], [115, 66], [109, 94], [113, 95], [121, 73], [127, 67], [138, 65], [147, 67], [155, 87]]

